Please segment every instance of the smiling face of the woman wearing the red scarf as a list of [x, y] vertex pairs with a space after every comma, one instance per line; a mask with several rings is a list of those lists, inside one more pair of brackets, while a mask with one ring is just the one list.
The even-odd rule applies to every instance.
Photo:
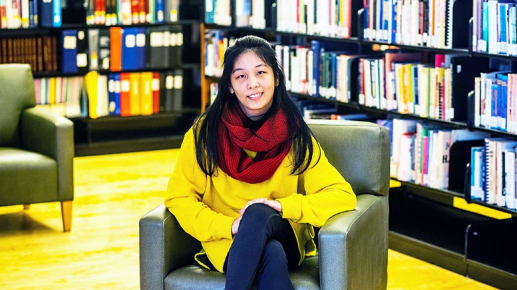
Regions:
[[252, 120], [271, 107], [275, 81], [273, 70], [254, 52], [245, 52], [235, 61], [230, 75], [230, 92], [235, 93], [242, 111]]

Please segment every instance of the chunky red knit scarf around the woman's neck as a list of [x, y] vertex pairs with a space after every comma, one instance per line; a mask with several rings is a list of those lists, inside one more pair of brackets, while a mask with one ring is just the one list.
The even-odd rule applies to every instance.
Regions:
[[[227, 106], [219, 124], [219, 167], [232, 178], [247, 183], [261, 183], [271, 178], [291, 149], [287, 118], [282, 108], [251, 132], [244, 126], [247, 118], [239, 105]], [[257, 152], [251, 159], [244, 150]]]

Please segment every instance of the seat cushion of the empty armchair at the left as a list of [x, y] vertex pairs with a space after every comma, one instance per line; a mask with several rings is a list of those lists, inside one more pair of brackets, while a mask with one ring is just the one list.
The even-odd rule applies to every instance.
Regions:
[[0, 205], [56, 201], [56, 161], [32, 151], [0, 147], [0, 184]]

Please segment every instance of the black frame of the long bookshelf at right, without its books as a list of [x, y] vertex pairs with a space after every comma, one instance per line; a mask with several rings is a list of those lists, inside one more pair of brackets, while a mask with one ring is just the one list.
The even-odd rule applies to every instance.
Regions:
[[[231, 2], [232, 5], [234, 5], [234, 1]], [[271, 18], [273, 20], [271, 23], [273, 24], [264, 29], [236, 27], [235, 21], [232, 25], [206, 23], [206, 21], [201, 25], [201, 110], [204, 110], [209, 104], [210, 84], [217, 83], [219, 80], [217, 76], [205, 75], [204, 35], [209, 30], [225, 31], [226, 36], [234, 37], [247, 34], [257, 35], [265, 37], [275, 44], [303, 45], [308, 44], [310, 40], [321, 40], [341, 43], [343, 47], [356, 45], [358, 54], [372, 54], [374, 53], [374, 46], [396, 46], [407, 52], [421, 52], [424, 57], [429, 54], [453, 54], [467, 57], [472, 62], [489, 62], [491, 59], [517, 60], [517, 56], [480, 53], [472, 50], [472, 20], [470, 19], [473, 15], [472, 1], [451, 0], [444, 2], [448, 5], [446, 14], [451, 23], [449, 34], [452, 39], [449, 47], [430, 47], [396, 41], [365, 39], [363, 2], [357, 0], [353, 0], [351, 3], [351, 7], [353, 7], [352, 15], [355, 16], [352, 19], [352, 31], [349, 38], [279, 31], [274, 24], [278, 3], [278, 1], [273, 3], [274, 5], [271, 7]], [[372, 1], [369, 3], [372, 3]], [[230, 16], [234, 18], [235, 11], [232, 11]], [[514, 64], [511, 67], [515, 68]], [[357, 79], [357, 75], [353, 75], [352, 79]], [[472, 82], [474, 82], [474, 78]], [[455, 91], [455, 93], [452, 98], [455, 113], [458, 112], [458, 114], [455, 114], [456, 118], [439, 120], [361, 105], [358, 102], [357, 95], [353, 95], [349, 102], [343, 103], [317, 95], [291, 92], [298, 98], [334, 105], [338, 112], [362, 112], [373, 116], [372, 118], [375, 119], [386, 117], [410, 119], [443, 125], [448, 128], [484, 132], [494, 137], [517, 139], [517, 134], [475, 126], [472, 120], [473, 116], [471, 116], [474, 111], [473, 93], [465, 90]], [[469, 146], [473, 146], [473, 144], [464, 143], [462, 146], [458, 146], [455, 150], [469, 149]], [[517, 269], [511, 264], [515, 264], [514, 261], [517, 257], [514, 254], [505, 254], [500, 250], [489, 251], [490, 255], [487, 255], [483, 253], [483, 248], [498, 248], [501, 243], [510, 243], [510, 241], [517, 240], [515, 227], [517, 211], [471, 199], [469, 195], [470, 175], [465, 175], [465, 167], [469, 160], [466, 160], [465, 156], [458, 158], [458, 160], [451, 161], [451, 163], [457, 163], [457, 166], [451, 169], [455, 172], [449, 176], [450, 182], [455, 184], [454, 190], [432, 188], [410, 181], [399, 181], [401, 187], [391, 190], [390, 248], [499, 288], [512, 288], [517, 283]], [[397, 179], [393, 180], [398, 181]], [[458, 206], [458, 200], [466, 201], [467, 205], [477, 204], [483, 208], [490, 208], [497, 213], [501, 213], [500, 215], [505, 216], [506, 219], [499, 220], [490, 215], [484, 215], [482, 211], [481, 213], [469, 211], [465, 206]], [[497, 227], [500, 232], [495, 233], [490, 230], [490, 227]]]

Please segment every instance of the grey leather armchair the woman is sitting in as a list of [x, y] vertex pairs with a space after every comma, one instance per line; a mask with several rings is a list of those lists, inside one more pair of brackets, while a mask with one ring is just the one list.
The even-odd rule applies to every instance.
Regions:
[[[358, 195], [355, 211], [331, 217], [318, 255], [290, 272], [296, 289], [385, 289], [388, 263], [389, 134], [366, 122], [310, 121], [330, 163]], [[140, 219], [142, 289], [223, 289], [222, 273], [195, 265], [200, 243], [164, 205]]]

